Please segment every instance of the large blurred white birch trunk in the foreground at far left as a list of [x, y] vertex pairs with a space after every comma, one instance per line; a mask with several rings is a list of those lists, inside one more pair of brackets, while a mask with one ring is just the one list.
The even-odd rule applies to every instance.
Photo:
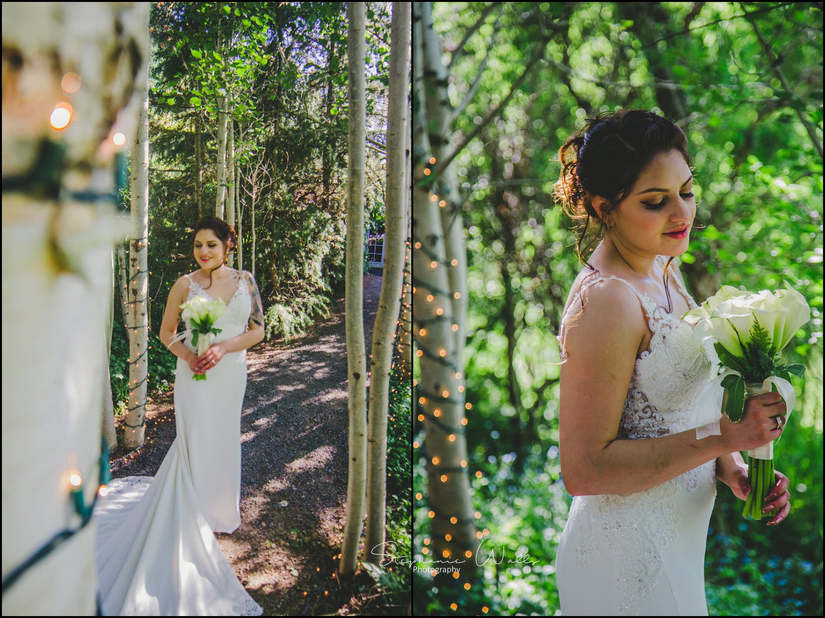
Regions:
[[[148, 58], [148, 3], [3, 2], [0, 22], [2, 615], [93, 616], [95, 526], [74, 507], [70, 475], [90, 506], [111, 247], [128, 227], [113, 198], [83, 194], [114, 194], [110, 136], [118, 118], [134, 129], [124, 108]], [[68, 94], [61, 80], [74, 72], [82, 87]], [[72, 107], [64, 129], [50, 125], [58, 101]]]

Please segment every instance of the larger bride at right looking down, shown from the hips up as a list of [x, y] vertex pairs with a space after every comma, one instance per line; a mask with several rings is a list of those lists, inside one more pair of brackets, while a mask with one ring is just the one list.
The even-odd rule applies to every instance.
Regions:
[[[644, 110], [588, 124], [559, 150], [556, 185], [568, 214], [592, 219], [601, 238], [559, 327], [559, 452], [573, 495], [556, 556], [559, 602], [563, 616], [707, 616], [715, 479], [745, 499], [739, 451], [779, 438], [785, 403], [754, 396], [739, 423], [722, 415], [697, 432], [695, 405], [718, 365], [680, 320], [696, 303], [672, 265], [696, 210], [685, 135]], [[788, 514], [788, 485], [775, 472], [768, 525]]]

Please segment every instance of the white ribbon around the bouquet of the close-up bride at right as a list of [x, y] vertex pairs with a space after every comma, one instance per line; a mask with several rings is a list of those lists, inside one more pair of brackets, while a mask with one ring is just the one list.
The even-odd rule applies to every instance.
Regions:
[[[708, 436], [722, 435], [719, 429], [719, 419], [722, 418], [722, 398], [724, 397], [724, 388], [722, 381], [728, 376], [742, 376], [741, 373], [734, 369], [726, 368], [718, 377], [710, 382], [705, 389], [700, 393], [698, 403], [696, 404], [696, 439], [707, 438]], [[796, 403], [796, 393], [794, 387], [790, 382], [783, 377], [771, 376], [767, 377], [764, 382], [759, 383], [745, 383], [745, 396], [761, 395], [762, 393], [771, 392], [771, 384], [776, 385], [776, 391], [779, 391], [782, 399], [785, 400], [785, 407], [787, 414], [785, 415], [785, 422], [787, 424], [790, 417], [790, 411], [794, 409]], [[747, 456], [756, 457], [757, 459], [773, 459], [773, 440], [761, 447], [754, 448], [747, 452]]]

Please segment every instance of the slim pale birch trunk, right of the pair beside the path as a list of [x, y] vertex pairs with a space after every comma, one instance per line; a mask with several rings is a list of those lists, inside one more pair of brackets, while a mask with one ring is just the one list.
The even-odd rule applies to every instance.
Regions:
[[384, 232], [384, 274], [372, 335], [370, 362], [370, 438], [367, 441], [366, 556], [374, 564], [384, 559], [387, 480], [387, 407], [395, 330], [401, 307], [407, 194], [408, 90], [410, 66], [410, 5], [393, 2], [387, 110], [387, 190]]

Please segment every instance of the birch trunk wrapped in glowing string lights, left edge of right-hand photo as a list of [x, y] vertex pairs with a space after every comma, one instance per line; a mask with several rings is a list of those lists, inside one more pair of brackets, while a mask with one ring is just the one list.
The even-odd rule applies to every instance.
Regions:
[[[414, 2], [415, 60], [413, 117], [416, 161], [413, 171], [413, 269], [416, 274], [413, 326], [421, 356], [417, 394], [424, 414], [427, 494], [432, 555], [463, 560], [465, 576], [478, 569], [479, 546], [469, 496], [464, 439], [464, 316], [467, 265], [455, 172], [447, 166], [433, 180], [424, 174], [450, 151], [449, 77], [441, 63], [441, 45], [432, 28], [431, 2]], [[436, 162], [431, 162], [435, 158]], [[420, 244], [419, 244], [420, 243]], [[426, 252], [425, 252], [426, 251]], [[426, 335], [422, 334], [422, 327]], [[449, 538], [450, 541], [446, 539]]]

